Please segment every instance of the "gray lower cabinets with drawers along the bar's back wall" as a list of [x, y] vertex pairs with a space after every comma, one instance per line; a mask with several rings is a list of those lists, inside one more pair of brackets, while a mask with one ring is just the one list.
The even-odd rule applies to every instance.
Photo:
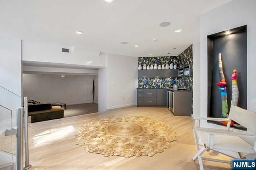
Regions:
[[138, 89], [137, 106], [167, 106], [166, 89]]

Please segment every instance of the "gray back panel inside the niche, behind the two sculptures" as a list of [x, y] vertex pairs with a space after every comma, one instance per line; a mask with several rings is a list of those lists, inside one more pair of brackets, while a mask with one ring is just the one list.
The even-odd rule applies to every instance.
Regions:
[[[237, 70], [239, 89], [238, 106], [247, 109], [247, 37], [246, 32], [231, 34], [213, 40], [212, 59], [212, 116], [221, 117], [222, 105], [217, 82], [220, 81], [218, 72], [218, 54], [222, 54], [223, 72], [227, 83], [228, 111], [232, 98], [233, 70]], [[209, 74], [208, 74], [209, 75]]]

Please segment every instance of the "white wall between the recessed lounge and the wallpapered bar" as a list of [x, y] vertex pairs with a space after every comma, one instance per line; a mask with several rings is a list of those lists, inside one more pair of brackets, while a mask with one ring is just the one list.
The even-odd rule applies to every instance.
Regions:
[[136, 105], [138, 58], [108, 54], [107, 109]]

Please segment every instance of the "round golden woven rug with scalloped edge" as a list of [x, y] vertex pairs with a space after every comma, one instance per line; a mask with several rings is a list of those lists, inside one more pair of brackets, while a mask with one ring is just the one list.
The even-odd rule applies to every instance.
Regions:
[[78, 129], [76, 145], [104, 156], [154, 156], [176, 141], [175, 131], [164, 122], [142, 116], [110, 116]]

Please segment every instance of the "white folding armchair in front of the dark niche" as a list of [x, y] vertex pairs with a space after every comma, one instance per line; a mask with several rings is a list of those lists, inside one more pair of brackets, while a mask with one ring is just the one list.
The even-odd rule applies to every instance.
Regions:
[[[194, 139], [196, 143], [196, 154], [193, 157], [195, 161], [198, 158], [200, 170], [203, 170], [202, 160], [229, 163], [230, 161], [213, 158], [204, 158], [201, 155], [210, 149], [219, 151], [238, 152], [240, 157], [243, 153], [256, 154], [256, 113], [242, 109], [237, 106], [231, 106], [228, 119], [211, 117], [194, 117], [196, 126], [193, 127]], [[200, 127], [200, 120], [227, 121], [226, 129], [213, 129]], [[247, 131], [236, 133], [230, 129], [231, 120], [247, 128]], [[201, 145], [201, 149], [199, 147]], [[221, 152], [222, 153], [222, 152]], [[232, 157], [232, 156], [230, 156]], [[234, 158], [234, 157], [232, 157]], [[245, 158], [245, 157], [244, 157]]]

